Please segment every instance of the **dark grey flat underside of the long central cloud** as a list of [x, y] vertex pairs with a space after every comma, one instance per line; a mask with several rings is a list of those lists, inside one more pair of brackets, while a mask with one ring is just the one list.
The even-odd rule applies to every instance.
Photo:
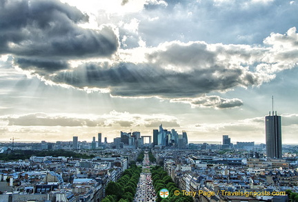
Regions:
[[123, 97], [195, 97], [207, 92], [229, 90], [238, 85], [257, 84], [255, 75], [241, 69], [225, 70], [221, 66], [213, 66], [208, 70], [175, 72], [155, 65], [133, 63], [121, 63], [111, 68], [89, 64], [74, 72], [60, 72], [49, 79], [78, 88], [110, 88], [112, 95]]

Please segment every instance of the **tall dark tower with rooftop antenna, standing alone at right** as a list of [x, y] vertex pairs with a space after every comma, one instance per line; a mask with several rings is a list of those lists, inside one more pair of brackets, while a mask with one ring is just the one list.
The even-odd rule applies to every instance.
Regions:
[[268, 158], [281, 159], [281, 116], [277, 116], [277, 112], [273, 111], [272, 97], [272, 115], [265, 117], [266, 123], [266, 154]]

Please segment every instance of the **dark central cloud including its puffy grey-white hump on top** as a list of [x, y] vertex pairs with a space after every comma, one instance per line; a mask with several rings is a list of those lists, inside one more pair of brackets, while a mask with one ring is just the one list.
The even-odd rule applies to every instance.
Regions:
[[[250, 51], [230, 47], [208, 50], [205, 43], [171, 43], [163, 50], [147, 54], [148, 63], [87, 63], [69, 72], [46, 79], [77, 88], [109, 88], [113, 96], [164, 98], [197, 97], [208, 92], [223, 92], [236, 87], [260, 85], [263, 80], [232, 57], [246, 60]], [[256, 50], [257, 52], [257, 50]], [[226, 61], [218, 59], [219, 55]], [[243, 59], [241, 59], [241, 57]], [[232, 64], [232, 63], [235, 63]], [[167, 68], [171, 65], [173, 68]], [[177, 69], [181, 70], [177, 70]], [[226, 108], [226, 105], [218, 106]], [[239, 102], [232, 105], [240, 105]]]

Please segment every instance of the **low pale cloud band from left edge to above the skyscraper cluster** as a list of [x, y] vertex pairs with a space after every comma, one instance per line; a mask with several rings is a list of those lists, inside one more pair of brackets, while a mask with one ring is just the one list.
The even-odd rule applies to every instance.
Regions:
[[[0, 117], [2, 125], [7, 126], [63, 126], [63, 127], [110, 127], [120, 125], [121, 127], [137, 127], [145, 125], [154, 127], [157, 123], [178, 126], [177, 118], [163, 114], [130, 114], [128, 112], [117, 112], [112, 110], [108, 114], [13, 114]], [[156, 123], [156, 124], [155, 124]], [[157, 127], [159, 126], [157, 125]]]

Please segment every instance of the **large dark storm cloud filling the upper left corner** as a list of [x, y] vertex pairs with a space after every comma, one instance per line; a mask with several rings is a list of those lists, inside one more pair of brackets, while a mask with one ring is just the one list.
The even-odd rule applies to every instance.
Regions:
[[77, 26], [87, 21], [86, 14], [59, 1], [5, 1], [0, 6], [0, 54], [32, 61], [109, 57], [119, 46], [117, 36], [108, 27]]

